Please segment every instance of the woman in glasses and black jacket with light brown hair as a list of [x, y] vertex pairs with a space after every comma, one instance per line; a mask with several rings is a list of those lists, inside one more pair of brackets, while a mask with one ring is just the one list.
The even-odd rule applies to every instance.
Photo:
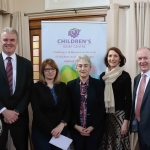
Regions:
[[46, 59], [41, 64], [39, 82], [32, 90], [31, 106], [34, 150], [59, 150], [49, 141], [52, 136], [67, 135], [70, 108], [66, 85], [60, 82], [58, 66], [53, 59]]

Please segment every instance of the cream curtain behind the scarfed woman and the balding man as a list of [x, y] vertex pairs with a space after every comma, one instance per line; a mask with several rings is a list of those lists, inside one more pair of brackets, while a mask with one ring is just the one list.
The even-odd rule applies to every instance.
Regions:
[[[107, 13], [107, 47], [116, 46], [125, 55], [124, 70], [132, 78], [140, 72], [136, 63], [136, 51], [142, 46], [150, 48], [150, 4], [132, 2], [130, 8], [120, 9], [112, 4]], [[139, 150], [137, 133], [131, 134], [131, 149]]]

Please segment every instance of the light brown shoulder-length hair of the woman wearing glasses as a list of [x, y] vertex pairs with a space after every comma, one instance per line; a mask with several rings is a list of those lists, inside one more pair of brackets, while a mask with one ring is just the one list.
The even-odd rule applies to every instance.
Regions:
[[42, 62], [41, 66], [40, 66], [41, 68], [40, 68], [40, 79], [39, 79], [39, 81], [43, 82], [43, 83], [46, 83], [45, 76], [44, 76], [44, 69], [45, 69], [46, 65], [49, 65], [52, 68], [56, 69], [56, 76], [54, 78], [54, 83], [59, 84], [60, 83], [59, 69], [58, 69], [58, 66], [57, 66], [56, 62], [51, 58], [45, 59]]

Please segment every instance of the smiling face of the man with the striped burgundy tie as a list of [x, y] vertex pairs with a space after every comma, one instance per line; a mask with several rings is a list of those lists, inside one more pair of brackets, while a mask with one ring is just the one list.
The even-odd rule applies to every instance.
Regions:
[[6, 55], [11, 56], [15, 52], [16, 47], [18, 45], [16, 34], [10, 34], [10, 33], [4, 32], [1, 34], [0, 41], [1, 41], [3, 52]]

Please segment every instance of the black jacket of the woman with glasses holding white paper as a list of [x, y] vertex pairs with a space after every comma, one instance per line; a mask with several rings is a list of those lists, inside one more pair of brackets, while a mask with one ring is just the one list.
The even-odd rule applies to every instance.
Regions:
[[51, 131], [61, 120], [68, 123], [70, 119], [70, 106], [65, 83], [55, 84], [54, 90], [58, 98], [57, 105], [55, 105], [55, 100], [48, 86], [42, 82], [34, 84], [31, 96], [33, 131], [50, 135]]

